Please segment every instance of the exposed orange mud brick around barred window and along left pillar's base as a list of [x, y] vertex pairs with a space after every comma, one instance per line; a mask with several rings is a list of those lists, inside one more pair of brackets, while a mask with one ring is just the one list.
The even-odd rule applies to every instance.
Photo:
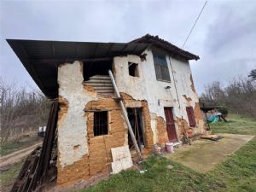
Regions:
[[[127, 145], [127, 126], [113, 98], [100, 98], [88, 102], [85, 106], [84, 117], [87, 117], [87, 133], [89, 154], [84, 155], [73, 165], [58, 169], [57, 183], [59, 185], [77, 183], [89, 179], [97, 173], [111, 172], [112, 155], [110, 148]], [[108, 135], [94, 137], [94, 112], [90, 110], [108, 111]], [[85, 126], [84, 126], [85, 129]], [[75, 150], [75, 148], [74, 148]]]

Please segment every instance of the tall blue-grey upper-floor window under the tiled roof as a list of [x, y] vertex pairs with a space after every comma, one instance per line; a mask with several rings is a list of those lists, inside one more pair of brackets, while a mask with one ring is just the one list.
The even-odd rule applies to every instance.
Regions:
[[167, 66], [166, 55], [153, 53], [154, 70], [157, 80], [171, 81]]

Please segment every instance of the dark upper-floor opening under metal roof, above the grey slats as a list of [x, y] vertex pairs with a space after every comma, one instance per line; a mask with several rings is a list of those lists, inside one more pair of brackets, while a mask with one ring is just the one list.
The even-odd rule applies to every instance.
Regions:
[[108, 76], [108, 70], [112, 70], [112, 61], [90, 61], [84, 62], [83, 73], [84, 81], [88, 81], [90, 77], [95, 75]]

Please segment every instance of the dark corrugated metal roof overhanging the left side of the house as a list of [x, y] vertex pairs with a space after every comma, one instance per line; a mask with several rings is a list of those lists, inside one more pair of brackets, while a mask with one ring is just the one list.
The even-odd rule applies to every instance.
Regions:
[[91, 43], [7, 39], [45, 96], [58, 96], [57, 67], [66, 61], [87, 61], [117, 55], [140, 55], [148, 44]]

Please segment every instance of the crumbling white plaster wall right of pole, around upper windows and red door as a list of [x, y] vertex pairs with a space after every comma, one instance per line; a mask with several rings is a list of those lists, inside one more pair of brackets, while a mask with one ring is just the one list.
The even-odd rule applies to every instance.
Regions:
[[[150, 49], [145, 50], [144, 53], [147, 54], [146, 61], [142, 61], [137, 55], [114, 57], [113, 70], [120, 92], [129, 94], [136, 100], [145, 100], [148, 102], [151, 116], [151, 128], [154, 133], [154, 143], [158, 143], [160, 139], [158, 133], [160, 131], [158, 131], [157, 126], [162, 122], [158, 117], [166, 119], [164, 107], [173, 108], [172, 112], [176, 121], [183, 119], [189, 122], [186, 107], [192, 106], [195, 109], [195, 107], [199, 106], [196, 104], [199, 101], [195, 93], [189, 61], [180, 61], [166, 56], [171, 82], [158, 81], [156, 80], [154, 70], [153, 53]], [[129, 75], [128, 62], [138, 64], [139, 77]], [[171, 88], [165, 89], [166, 86], [170, 86]], [[191, 101], [188, 102], [184, 96], [189, 97]], [[198, 124], [196, 130], [203, 131], [204, 125], [201, 112], [197, 109], [198, 108], [196, 108], [197, 115], [195, 115], [195, 118], [199, 120], [197, 120]], [[176, 124], [178, 138], [182, 137], [180, 126], [181, 124]]]

